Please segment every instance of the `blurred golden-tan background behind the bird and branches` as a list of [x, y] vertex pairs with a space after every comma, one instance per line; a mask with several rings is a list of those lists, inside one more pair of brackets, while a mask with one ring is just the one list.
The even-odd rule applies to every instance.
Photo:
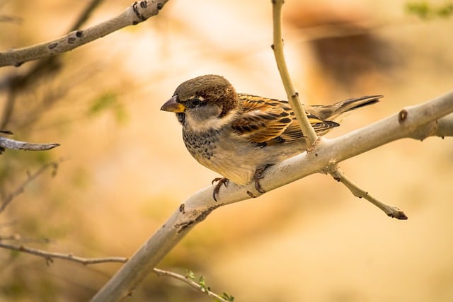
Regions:
[[[1, 0], [1, 50], [67, 33], [87, 2]], [[81, 28], [129, 5], [103, 1]], [[305, 103], [385, 95], [328, 137], [452, 89], [452, 18], [418, 18], [407, 8], [407, 1], [286, 1], [285, 52]], [[159, 16], [44, 68], [1, 68], [2, 129], [62, 144], [0, 156], [2, 200], [28, 173], [62, 159], [54, 177], [49, 170], [31, 182], [0, 214], [1, 238], [81, 257], [132, 255], [218, 176], [190, 157], [176, 117], [160, 106], [180, 82], [202, 74], [221, 74], [239, 92], [285, 98], [271, 43], [270, 1], [171, 0]], [[340, 167], [408, 221], [312, 175], [217, 209], [159, 267], [190, 269], [235, 301], [453, 301], [452, 139], [404, 139]], [[119, 268], [46, 265], [0, 250], [0, 300], [86, 301]], [[150, 275], [130, 301], [212, 300]]]

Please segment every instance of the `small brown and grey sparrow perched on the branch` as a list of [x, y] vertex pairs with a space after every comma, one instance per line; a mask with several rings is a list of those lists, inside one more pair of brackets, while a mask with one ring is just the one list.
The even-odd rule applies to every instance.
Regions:
[[[382, 95], [362, 96], [304, 109], [321, 136], [340, 125], [335, 120], [344, 112], [379, 98]], [[304, 134], [286, 100], [236, 93], [222, 76], [209, 74], [181, 83], [161, 110], [176, 113], [193, 158], [223, 176], [212, 181], [217, 181], [216, 202], [220, 187], [230, 180], [236, 185], [254, 181], [256, 190], [264, 193], [259, 180], [265, 168], [306, 151]]]

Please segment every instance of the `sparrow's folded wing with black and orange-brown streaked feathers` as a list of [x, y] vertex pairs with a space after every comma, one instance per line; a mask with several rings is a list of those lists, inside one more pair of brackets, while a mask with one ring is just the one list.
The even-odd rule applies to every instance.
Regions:
[[[282, 144], [304, 138], [299, 123], [289, 103], [284, 100], [262, 98], [256, 95], [239, 94], [243, 105], [240, 117], [231, 127], [246, 141], [258, 146]], [[336, 122], [323, 121], [307, 114], [316, 133], [324, 134]]]

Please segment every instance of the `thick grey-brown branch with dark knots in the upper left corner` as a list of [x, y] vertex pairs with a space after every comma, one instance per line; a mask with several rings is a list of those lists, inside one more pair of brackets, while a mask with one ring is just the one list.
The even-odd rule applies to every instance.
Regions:
[[55, 56], [62, 52], [74, 50], [74, 48], [96, 40], [125, 28], [146, 21], [151, 16], [156, 16], [168, 0], [136, 1], [119, 16], [108, 21], [59, 37], [55, 40], [43, 42], [30, 47], [23, 47], [6, 52], [0, 52], [0, 66], [21, 66], [23, 62]]

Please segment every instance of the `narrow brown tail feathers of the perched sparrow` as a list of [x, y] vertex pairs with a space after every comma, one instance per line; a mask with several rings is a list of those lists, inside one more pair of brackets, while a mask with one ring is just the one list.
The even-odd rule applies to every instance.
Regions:
[[379, 98], [382, 98], [382, 96], [383, 95], [366, 95], [361, 96], [360, 98], [350, 98], [330, 106], [310, 106], [311, 110], [307, 111], [316, 115], [316, 117], [319, 117], [321, 120], [336, 120], [336, 118], [344, 112], [379, 102]]

